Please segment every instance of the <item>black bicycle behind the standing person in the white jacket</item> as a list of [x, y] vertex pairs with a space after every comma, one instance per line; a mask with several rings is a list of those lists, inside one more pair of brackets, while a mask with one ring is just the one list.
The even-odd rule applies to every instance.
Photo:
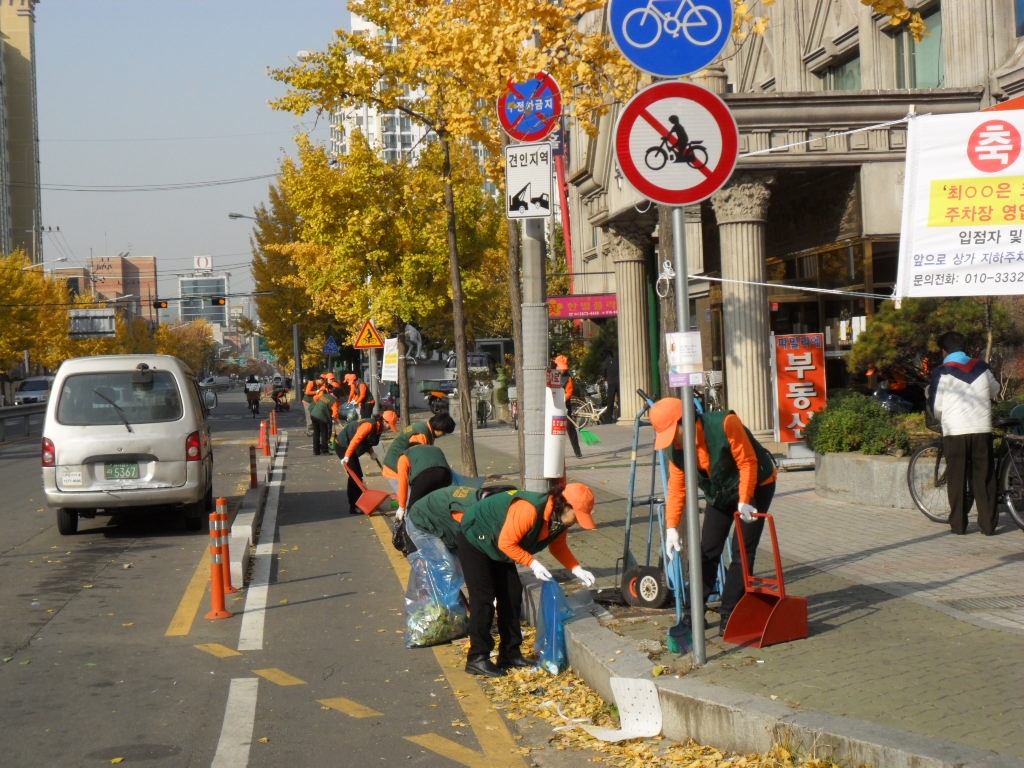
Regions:
[[[998, 505], [1006, 505], [1014, 522], [1024, 529], [1024, 435], [1011, 431], [1020, 426], [1017, 419], [1000, 419], [992, 431], [999, 439], [995, 457], [996, 515]], [[913, 452], [906, 469], [906, 481], [913, 503], [925, 517], [934, 522], [949, 522], [946, 461], [941, 437]]]

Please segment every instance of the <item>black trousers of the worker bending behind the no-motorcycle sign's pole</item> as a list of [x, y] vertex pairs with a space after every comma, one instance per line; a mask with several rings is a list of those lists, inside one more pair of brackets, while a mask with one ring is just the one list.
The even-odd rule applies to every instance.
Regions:
[[[759, 486], [754, 494], [754, 506], [757, 507], [758, 512], [767, 512], [774, 496], [774, 482]], [[735, 511], [734, 509], [721, 510], [711, 506], [705, 508], [705, 521], [700, 529], [700, 572], [703, 578], [705, 602], [708, 602], [708, 597], [715, 587], [715, 580], [718, 578], [718, 564], [722, 559], [725, 542], [729, 538], [729, 528], [732, 525], [732, 515]], [[754, 522], [739, 523], [743, 549], [746, 551], [746, 560], [752, 571], [754, 570], [754, 555], [758, 551], [758, 542], [761, 541], [761, 531], [764, 530], [764, 527], [763, 517], [756, 518]], [[732, 609], [736, 607], [736, 603], [745, 592], [743, 563], [739, 559], [739, 540], [740, 536], [738, 535], [732, 537], [732, 561], [725, 571], [722, 604], [719, 607], [719, 613], [722, 616], [728, 616], [732, 613]]]

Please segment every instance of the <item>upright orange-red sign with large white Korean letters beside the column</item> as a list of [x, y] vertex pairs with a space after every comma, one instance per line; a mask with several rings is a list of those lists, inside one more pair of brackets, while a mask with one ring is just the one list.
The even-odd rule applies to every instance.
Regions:
[[824, 334], [775, 337], [779, 442], [802, 442], [811, 416], [825, 407]]

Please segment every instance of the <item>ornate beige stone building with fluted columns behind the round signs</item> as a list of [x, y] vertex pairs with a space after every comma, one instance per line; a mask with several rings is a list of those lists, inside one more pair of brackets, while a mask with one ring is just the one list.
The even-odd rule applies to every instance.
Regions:
[[[774, 426], [770, 334], [824, 333], [829, 382], [845, 384], [853, 332], [891, 294], [908, 121], [1024, 93], [1024, 4], [907, 4], [929, 27], [920, 42], [860, 3], [776, 3], [762, 9], [764, 35], [689, 78], [725, 100], [739, 130], [731, 178], [684, 210], [691, 328], [705, 368], [724, 371], [728, 407], [761, 437]], [[606, 24], [603, 14], [585, 23]], [[650, 350], [679, 329], [673, 296], [651, 290], [672, 259], [669, 209], [622, 177], [617, 114], [596, 137], [571, 133], [569, 206], [575, 290], [617, 294], [629, 392], [664, 379]], [[632, 419], [639, 399], [625, 399]]]

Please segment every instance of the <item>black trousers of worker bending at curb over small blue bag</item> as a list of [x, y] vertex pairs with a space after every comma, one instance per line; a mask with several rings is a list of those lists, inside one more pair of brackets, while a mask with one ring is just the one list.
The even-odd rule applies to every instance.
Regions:
[[522, 582], [513, 562], [492, 560], [460, 531], [456, 537], [459, 562], [469, 591], [469, 659], [487, 658], [495, 647], [490, 625], [498, 603], [499, 655], [522, 652]]

